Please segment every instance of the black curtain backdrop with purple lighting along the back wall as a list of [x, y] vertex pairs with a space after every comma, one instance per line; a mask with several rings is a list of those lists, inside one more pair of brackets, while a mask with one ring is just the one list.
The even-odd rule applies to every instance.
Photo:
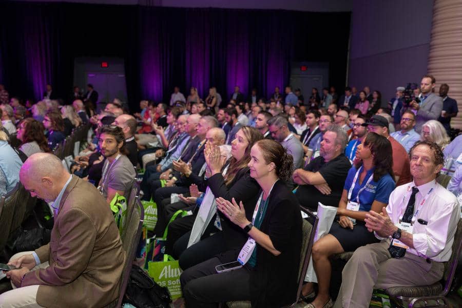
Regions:
[[242, 83], [268, 95], [292, 61], [329, 62], [330, 83], [345, 82], [350, 13], [27, 2], [0, 11], [0, 82], [22, 98], [40, 99], [46, 83], [67, 97], [78, 56], [124, 58], [132, 106], [168, 101], [174, 85], [200, 85], [202, 97], [215, 85], [226, 99]]

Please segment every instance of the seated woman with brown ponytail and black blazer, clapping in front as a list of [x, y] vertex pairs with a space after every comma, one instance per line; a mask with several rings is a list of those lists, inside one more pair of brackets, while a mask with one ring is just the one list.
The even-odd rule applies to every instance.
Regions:
[[251, 157], [250, 175], [261, 187], [253, 213], [235, 199], [217, 198], [222, 215], [247, 233], [248, 249], [238, 257], [244, 266], [217, 274], [221, 260], [215, 257], [187, 269], [182, 274], [192, 277], [182, 284], [187, 307], [216, 307], [233, 300], [251, 300], [252, 307], [281, 307], [296, 299], [302, 218], [285, 183], [292, 175], [293, 158], [273, 140], [257, 142]]

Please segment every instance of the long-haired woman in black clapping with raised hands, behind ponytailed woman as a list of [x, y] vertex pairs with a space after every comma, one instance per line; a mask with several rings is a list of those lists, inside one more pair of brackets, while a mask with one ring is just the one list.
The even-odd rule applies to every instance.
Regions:
[[[252, 146], [261, 139], [263, 139], [263, 135], [256, 128], [243, 126], [237, 131], [236, 138], [231, 143], [232, 157], [226, 163], [220, 158], [220, 149], [218, 147], [206, 145], [204, 149], [207, 163], [206, 184], [210, 187], [215, 198], [222, 197], [229, 201], [235, 198], [242, 201], [244, 206], [248, 208], [249, 213], [251, 213], [250, 215], [252, 215], [255, 208], [260, 187], [250, 177], [247, 164], [251, 159], [250, 151]], [[223, 174], [225, 175], [223, 176]], [[225, 216], [220, 213], [218, 213], [218, 216], [223, 232], [215, 228], [216, 233], [213, 236], [199, 241], [182, 252], [179, 264], [183, 270], [223, 252], [227, 252], [222, 257], [223, 260], [236, 259], [239, 249], [247, 240], [246, 234]], [[215, 219], [212, 220], [211, 224], [214, 223]], [[184, 238], [180, 238], [178, 241], [182, 241], [184, 246], [184, 240]], [[186, 247], [184, 246], [184, 248]], [[179, 254], [178, 250], [177, 243], [175, 243], [174, 251], [177, 254]]]

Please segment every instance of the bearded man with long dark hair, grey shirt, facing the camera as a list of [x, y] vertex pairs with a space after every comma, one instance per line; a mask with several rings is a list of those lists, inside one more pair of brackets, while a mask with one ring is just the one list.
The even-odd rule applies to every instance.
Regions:
[[128, 159], [125, 136], [122, 128], [115, 125], [102, 126], [99, 146], [101, 155], [106, 158], [100, 181], [100, 188], [107, 203], [115, 194], [128, 198], [136, 172]]

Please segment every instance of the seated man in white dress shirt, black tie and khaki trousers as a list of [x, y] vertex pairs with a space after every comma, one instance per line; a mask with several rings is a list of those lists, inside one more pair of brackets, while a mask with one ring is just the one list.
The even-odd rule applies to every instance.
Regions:
[[460, 215], [456, 197], [436, 183], [444, 163], [428, 141], [410, 150], [414, 181], [396, 187], [389, 204], [364, 220], [382, 241], [358, 248], [342, 272], [334, 307], [367, 307], [374, 288], [430, 285], [442, 277]]

